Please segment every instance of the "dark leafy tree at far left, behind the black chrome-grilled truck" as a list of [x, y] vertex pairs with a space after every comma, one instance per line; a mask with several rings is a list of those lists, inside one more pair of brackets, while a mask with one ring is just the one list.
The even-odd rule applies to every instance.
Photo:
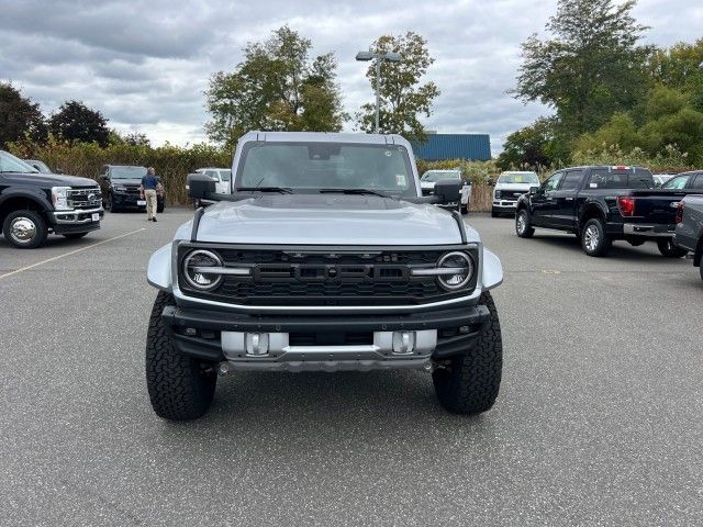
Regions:
[[11, 83], [0, 82], [0, 148], [26, 136], [35, 142], [46, 139], [46, 123], [40, 105], [22, 97]]

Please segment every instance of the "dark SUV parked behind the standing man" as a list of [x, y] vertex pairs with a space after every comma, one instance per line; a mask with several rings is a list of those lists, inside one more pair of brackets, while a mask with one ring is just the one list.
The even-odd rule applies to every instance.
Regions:
[[[131, 165], [103, 165], [98, 182], [102, 190], [102, 201], [107, 211], [121, 212], [127, 209], [146, 210], [140, 187], [146, 176], [146, 167]], [[157, 191], [157, 212], [164, 212], [164, 188]]]

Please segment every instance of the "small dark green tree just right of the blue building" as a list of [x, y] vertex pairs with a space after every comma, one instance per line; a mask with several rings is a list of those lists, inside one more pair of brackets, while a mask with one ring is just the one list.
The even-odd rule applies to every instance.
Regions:
[[549, 167], [558, 160], [558, 141], [554, 119], [539, 117], [505, 139], [498, 165], [503, 169]]

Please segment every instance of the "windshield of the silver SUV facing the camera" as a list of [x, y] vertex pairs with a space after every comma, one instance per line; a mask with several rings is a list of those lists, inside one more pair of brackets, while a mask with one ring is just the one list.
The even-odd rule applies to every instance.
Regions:
[[282, 187], [297, 192], [368, 189], [417, 195], [408, 150], [358, 143], [248, 143], [236, 173], [237, 189]]

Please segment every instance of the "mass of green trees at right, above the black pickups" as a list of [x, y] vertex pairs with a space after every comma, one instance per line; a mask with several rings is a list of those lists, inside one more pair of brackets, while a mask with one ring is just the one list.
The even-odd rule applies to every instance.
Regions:
[[509, 167], [556, 167], [590, 158], [678, 158], [703, 164], [703, 38], [668, 48], [643, 44], [649, 29], [635, 0], [559, 0], [522, 44], [512, 94], [553, 114], [512, 133]]

